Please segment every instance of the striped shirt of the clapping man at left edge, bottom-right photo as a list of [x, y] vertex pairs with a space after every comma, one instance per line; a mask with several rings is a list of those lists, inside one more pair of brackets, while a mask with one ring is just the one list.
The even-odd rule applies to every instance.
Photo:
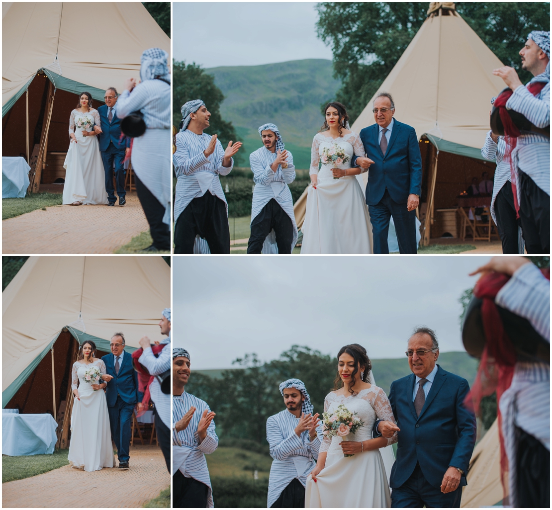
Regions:
[[176, 432], [173, 428], [173, 466], [172, 474], [180, 470], [187, 478], [198, 480], [209, 487], [207, 507], [213, 508], [213, 489], [205, 454], [213, 453], [219, 445], [219, 438], [215, 433], [215, 422], [211, 421], [205, 439], [199, 443], [198, 424], [203, 411], [211, 411], [206, 402], [189, 393], [182, 396], [173, 395], [173, 423], [181, 420], [190, 407], [195, 407], [192, 419], [183, 431]]

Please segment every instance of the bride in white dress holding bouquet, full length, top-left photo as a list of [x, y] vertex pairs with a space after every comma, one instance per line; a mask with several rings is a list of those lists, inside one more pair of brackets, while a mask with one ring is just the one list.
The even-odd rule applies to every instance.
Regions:
[[96, 135], [102, 133], [98, 110], [92, 108], [92, 94], [83, 92], [71, 112], [71, 142], [63, 163], [63, 205], [107, 204], [105, 171]]

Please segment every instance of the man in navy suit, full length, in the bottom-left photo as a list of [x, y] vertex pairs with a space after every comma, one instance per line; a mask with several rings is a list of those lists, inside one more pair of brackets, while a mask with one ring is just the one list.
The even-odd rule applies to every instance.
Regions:
[[[138, 377], [132, 357], [125, 353], [123, 333], [115, 333], [109, 344], [113, 354], [102, 357], [109, 379], [105, 397], [111, 424], [111, 435], [117, 447], [119, 468], [129, 467], [132, 411], [138, 402]], [[105, 379], [105, 376], [104, 376]], [[138, 404], [139, 409], [141, 404]]]

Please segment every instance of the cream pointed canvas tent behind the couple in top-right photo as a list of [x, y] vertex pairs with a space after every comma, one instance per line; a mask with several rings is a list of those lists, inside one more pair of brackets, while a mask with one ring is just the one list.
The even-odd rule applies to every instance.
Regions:
[[[490, 129], [491, 98], [505, 88], [492, 75], [501, 66], [454, 3], [433, 2], [420, 30], [351, 127], [358, 133], [375, 123], [372, 103], [385, 91], [394, 98], [396, 119], [415, 128], [421, 140], [422, 202], [430, 212], [422, 237], [426, 243], [434, 209], [455, 206], [455, 197], [472, 177], [483, 171], [492, 176], [494, 165], [482, 160], [481, 147]], [[359, 179], [364, 189], [368, 174]], [[294, 208], [298, 226], [306, 195], [301, 199]]]

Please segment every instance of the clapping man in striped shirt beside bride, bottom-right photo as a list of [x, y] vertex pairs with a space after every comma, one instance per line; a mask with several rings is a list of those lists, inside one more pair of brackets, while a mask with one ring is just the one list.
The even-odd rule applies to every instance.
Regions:
[[305, 485], [316, 466], [322, 426], [305, 384], [288, 379], [280, 384], [286, 409], [267, 419], [267, 441], [274, 459], [268, 479], [268, 508], [304, 508]]

